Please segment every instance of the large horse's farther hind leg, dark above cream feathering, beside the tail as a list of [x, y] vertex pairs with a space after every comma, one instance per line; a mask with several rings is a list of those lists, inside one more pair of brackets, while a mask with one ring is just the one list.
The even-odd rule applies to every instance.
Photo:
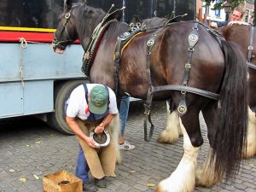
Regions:
[[[218, 102], [212, 102], [212, 104], [208, 105], [207, 108], [202, 110], [204, 119], [207, 123], [207, 130], [208, 130], [208, 138], [210, 145], [213, 143], [213, 137], [215, 131], [213, 130], [213, 123], [215, 122], [214, 119], [214, 108], [218, 108]], [[211, 186], [212, 184], [218, 183], [222, 175], [221, 173], [216, 174], [214, 173], [214, 158], [212, 156], [212, 148], [209, 148], [207, 158], [202, 164], [200, 168], [197, 168], [195, 171], [195, 184], [200, 186]]]

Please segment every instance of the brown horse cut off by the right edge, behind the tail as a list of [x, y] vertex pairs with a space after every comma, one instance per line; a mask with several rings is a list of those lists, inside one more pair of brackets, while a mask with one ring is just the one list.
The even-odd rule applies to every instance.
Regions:
[[239, 45], [241, 52], [247, 57], [248, 67], [248, 131], [247, 148], [244, 157], [256, 155], [256, 32], [253, 26], [234, 24], [220, 29], [224, 38]]

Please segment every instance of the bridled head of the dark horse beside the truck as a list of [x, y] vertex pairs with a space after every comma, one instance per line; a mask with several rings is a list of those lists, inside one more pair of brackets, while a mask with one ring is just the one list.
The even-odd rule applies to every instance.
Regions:
[[52, 41], [53, 49], [56, 53], [62, 54], [68, 44], [71, 44], [78, 38], [76, 31], [75, 17], [72, 13], [72, 1], [66, 0], [64, 3], [64, 12], [59, 18], [55, 37]]

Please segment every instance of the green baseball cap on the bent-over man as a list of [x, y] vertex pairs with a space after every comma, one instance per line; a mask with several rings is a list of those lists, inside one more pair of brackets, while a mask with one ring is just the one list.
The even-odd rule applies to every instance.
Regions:
[[103, 114], [108, 108], [108, 90], [96, 85], [90, 90], [89, 108], [91, 113]]

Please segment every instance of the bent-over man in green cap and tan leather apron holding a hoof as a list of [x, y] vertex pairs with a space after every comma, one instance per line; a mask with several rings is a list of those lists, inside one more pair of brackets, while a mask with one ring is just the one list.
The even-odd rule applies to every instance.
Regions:
[[[79, 140], [75, 175], [82, 179], [84, 191], [105, 188], [105, 177], [115, 177], [119, 159], [119, 111], [113, 90], [102, 84], [81, 84], [72, 91], [66, 113], [67, 125]], [[96, 135], [108, 131], [108, 146], [99, 147], [90, 137], [92, 131]], [[95, 183], [89, 183], [89, 170]]]

